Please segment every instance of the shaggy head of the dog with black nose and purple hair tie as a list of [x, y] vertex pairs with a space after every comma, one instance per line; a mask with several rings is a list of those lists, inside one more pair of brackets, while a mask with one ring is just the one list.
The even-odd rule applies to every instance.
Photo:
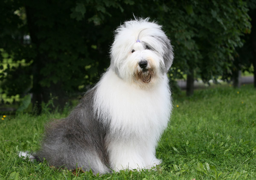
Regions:
[[172, 65], [173, 49], [161, 26], [146, 19], [125, 22], [116, 29], [110, 68], [125, 81], [154, 84]]

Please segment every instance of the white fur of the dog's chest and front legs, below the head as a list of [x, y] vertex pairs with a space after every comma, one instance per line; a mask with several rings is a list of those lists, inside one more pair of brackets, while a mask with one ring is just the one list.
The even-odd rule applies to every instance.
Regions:
[[167, 76], [151, 89], [140, 89], [109, 70], [96, 94], [98, 116], [110, 123], [106, 141], [111, 168], [150, 169], [159, 164], [155, 148], [172, 108]]

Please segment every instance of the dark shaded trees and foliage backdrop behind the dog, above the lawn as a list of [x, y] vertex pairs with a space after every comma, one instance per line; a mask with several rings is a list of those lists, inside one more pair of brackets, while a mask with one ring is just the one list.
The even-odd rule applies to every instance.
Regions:
[[256, 0], [1, 0], [0, 114], [40, 114], [82, 97], [109, 66], [125, 20], [163, 25], [174, 94], [224, 84], [256, 88]]

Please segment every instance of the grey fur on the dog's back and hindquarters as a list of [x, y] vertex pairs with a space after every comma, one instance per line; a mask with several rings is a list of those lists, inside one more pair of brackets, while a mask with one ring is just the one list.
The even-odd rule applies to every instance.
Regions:
[[93, 112], [95, 90], [96, 86], [88, 91], [67, 118], [48, 124], [37, 159], [67, 169], [91, 169], [95, 174], [111, 172], [105, 149], [108, 127]]

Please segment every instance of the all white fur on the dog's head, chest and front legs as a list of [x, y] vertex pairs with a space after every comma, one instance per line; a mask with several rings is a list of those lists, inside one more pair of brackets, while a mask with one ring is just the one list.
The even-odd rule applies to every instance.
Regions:
[[[161, 163], [155, 148], [172, 110], [166, 75], [172, 59], [170, 41], [156, 23], [132, 20], [116, 30], [111, 66], [94, 97], [95, 115], [109, 126], [105, 143], [111, 169], [151, 169]], [[134, 75], [142, 71], [141, 60], [154, 70], [148, 83]]]

